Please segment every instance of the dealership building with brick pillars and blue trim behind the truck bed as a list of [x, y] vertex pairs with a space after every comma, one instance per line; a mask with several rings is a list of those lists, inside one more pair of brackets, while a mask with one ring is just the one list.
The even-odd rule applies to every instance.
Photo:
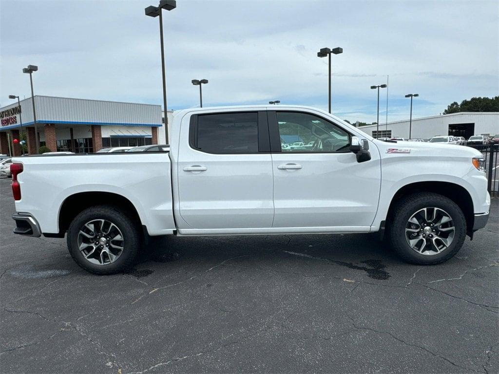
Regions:
[[[105, 147], [165, 144], [160, 105], [34, 96], [39, 146], [50, 151], [97, 152]], [[168, 112], [171, 122], [172, 112]], [[0, 154], [21, 154], [20, 131], [29, 154], [36, 153], [31, 98], [0, 108]]]

